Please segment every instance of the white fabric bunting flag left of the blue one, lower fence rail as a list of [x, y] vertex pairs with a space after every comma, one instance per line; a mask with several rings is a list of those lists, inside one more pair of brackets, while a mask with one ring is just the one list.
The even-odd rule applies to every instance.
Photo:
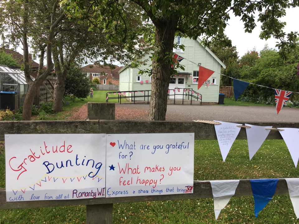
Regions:
[[234, 196], [239, 180], [211, 180], [214, 198], [214, 212], [217, 219], [221, 209], [227, 205], [230, 198]]

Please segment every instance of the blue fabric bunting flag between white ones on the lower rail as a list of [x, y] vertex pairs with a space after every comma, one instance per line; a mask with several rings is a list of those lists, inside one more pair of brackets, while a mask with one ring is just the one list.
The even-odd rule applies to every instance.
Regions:
[[258, 217], [259, 212], [272, 199], [275, 193], [278, 179], [250, 180], [252, 194], [254, 197], [254, 215]]

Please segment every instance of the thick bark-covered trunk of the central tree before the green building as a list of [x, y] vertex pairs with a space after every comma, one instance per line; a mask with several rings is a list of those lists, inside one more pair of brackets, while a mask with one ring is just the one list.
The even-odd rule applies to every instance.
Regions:
[[165, 57], [172, 56], [177, 19], [156, 23], [155, 50], [153, 57], [152, 89], [149, 120], [165, 120], [167, 110], [167, 90], [172, 75], [171, 63]]

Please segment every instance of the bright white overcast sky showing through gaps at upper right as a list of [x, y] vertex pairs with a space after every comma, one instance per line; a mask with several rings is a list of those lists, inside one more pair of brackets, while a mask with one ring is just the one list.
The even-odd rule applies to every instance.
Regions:
[[[285, 33], [289, 33], [291, 31], [298, 31], [298, 16], [299, 16], [299, 7], [290, 8], [286, 10], [286, 16], [284, 16], [281, 21], [287, 23], [284, 28]], [[252, 31], [252, 33], [244, 32], [243, 22], [240, 21], [240, 17], [230, 16], [231, 19], [228, 21], [228, 26], [225, 29], [225, 34], [232, 41], [232, 45], [237, 47], [238, 56], [242, 57], [247, 51], [251, 51], [252, 49], [256, 49], [256, 51], [260, 52], [265, 44], [268, 44], [269, 48], [276, 49], [275, 45], [278, 40], [274, 38], [268, 40], [261, 40], [259, 38], [260, 34], [260, 24], [257, 24], [257, 27]]]

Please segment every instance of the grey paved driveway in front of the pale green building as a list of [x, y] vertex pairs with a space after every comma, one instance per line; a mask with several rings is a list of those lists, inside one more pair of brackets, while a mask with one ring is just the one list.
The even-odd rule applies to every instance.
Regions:
[[[116, 104], [120, 110], [148, 111], [149, 105]], [[299, 109], [275, 106], [167, 105], [166, 120], [220, 120], [227, 122], [299, 122]]]

